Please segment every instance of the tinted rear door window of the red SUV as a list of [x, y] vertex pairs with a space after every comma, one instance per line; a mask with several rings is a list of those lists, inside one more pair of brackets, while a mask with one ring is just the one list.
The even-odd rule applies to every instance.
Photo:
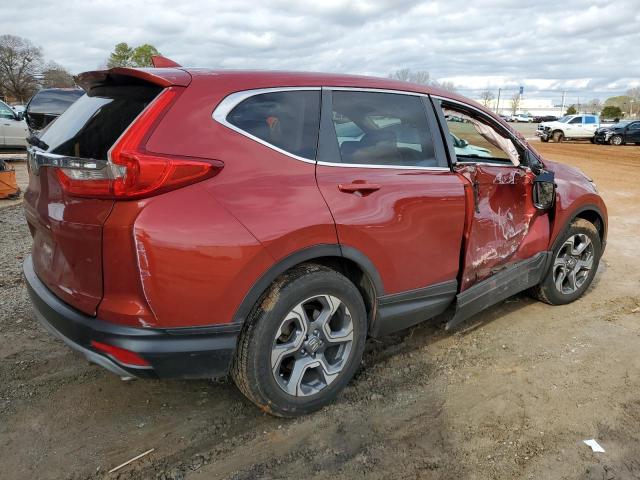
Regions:
[[342, 163], [439, 166], [419, 97], [336, 91], [333, 124]]

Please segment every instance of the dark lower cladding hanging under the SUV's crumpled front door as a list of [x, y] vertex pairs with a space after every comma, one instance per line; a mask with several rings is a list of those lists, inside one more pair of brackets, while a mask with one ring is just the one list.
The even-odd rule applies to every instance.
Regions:
[[506, 267], [458, 294], [456, 312], [447, 322], [446, 329], [450, 330], [485, 308], [536, 286], [549, 269], [552, 258], [551, 252], [540, 252]]

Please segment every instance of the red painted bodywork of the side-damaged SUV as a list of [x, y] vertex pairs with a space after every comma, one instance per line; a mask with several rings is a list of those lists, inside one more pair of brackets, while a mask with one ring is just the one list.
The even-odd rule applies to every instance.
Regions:
[[[278, 86], [412, 90], [473, 103], [449, 92], [345, 75], [176, 68], [109, 74], [183, 89], [168, 110], [139, 129], [132, 156], [218, 168], [215, 177], [171, 191], [138, 192], [140, 198], [126, 201], [70, 195], [50, 167], [30, 176], [25, 211], [38, 276], [65, 302], [104, 321], [138, 327], [229, 323], [276, 262], [326, 244], [368, 257], [385, 294], [456, 278], [466, 289], [548, 249], [578, 208], [595, 205], [606, 223], [604, 204], [586, 178], [553, 162], [546, 162], [558, 183], [550, 223], [533, 207], [532, 174], [521, 169], [316, 167], [212, 119], [230, 93]], [[106, 75], [80, 78], [90, 85]], [[487, 247], [496, 252], [493, 258], [482, 256]]]

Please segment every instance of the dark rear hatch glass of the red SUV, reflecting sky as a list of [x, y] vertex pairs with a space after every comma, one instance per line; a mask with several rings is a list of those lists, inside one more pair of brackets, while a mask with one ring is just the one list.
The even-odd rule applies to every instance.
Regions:
[[40, 135], [48, 151], [70, 157], [107, 160], [107, 152], [160, 92], [156, 86], [91, 89]]

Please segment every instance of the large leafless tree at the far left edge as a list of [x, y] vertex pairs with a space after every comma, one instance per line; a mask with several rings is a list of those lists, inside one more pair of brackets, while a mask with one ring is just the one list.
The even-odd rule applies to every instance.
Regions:
[[42, 65], [42, 51], [29, 40], [0, 36], [0, 86], [7, 97], [23, 103], [37, 90], [35, 74]]

